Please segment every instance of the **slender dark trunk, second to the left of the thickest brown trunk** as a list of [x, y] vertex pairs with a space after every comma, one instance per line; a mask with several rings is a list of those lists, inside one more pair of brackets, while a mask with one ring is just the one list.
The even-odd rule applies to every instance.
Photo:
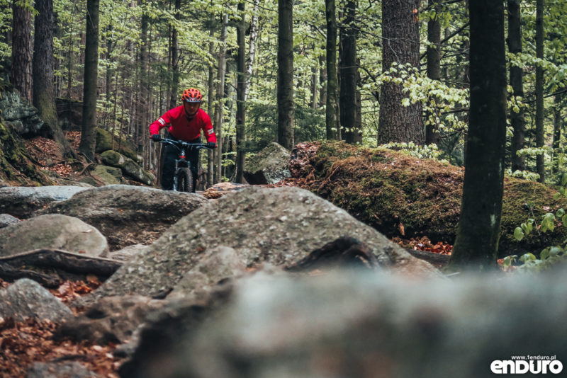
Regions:
[[337, 139], [340, 131], [337, 102], [337, 14], [335, 0], [325, 0], [327, 18], [327, 101], [325, 125], [327, 140]]

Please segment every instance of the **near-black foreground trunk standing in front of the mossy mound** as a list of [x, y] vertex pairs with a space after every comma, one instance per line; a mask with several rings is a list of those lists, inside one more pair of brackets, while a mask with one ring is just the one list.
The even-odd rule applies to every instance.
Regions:
[[496, 266], [506, 141], [504, 3], [471, 1], [471, 108], [461, 216], [449, 265]]

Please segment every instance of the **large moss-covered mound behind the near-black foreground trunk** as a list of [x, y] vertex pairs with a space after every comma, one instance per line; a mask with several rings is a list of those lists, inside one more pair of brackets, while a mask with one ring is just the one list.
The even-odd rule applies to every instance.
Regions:
[[[464, 169], [430, 159], [417, 159], [389, 149], [366, 149], [342, 142], [320, 145], [310, 158], [309, 180], [301, 186], [330, 200], [386, 236], [427, 236], [454, 242], [459, 222]], [[555, 190], [518, 178], [505, 179], [500, 255], [538, 252], [561, 243], [566, 227], [541, 237], [513, 238], [527, 218], [539, 222], [546, 212], [565, 205]], [[524, 204], [528, 204], [527, 206]]]

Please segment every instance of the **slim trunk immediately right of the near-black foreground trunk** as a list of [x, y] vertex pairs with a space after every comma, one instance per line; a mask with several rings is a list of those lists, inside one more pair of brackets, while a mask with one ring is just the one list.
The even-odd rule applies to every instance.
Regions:
[[[520, 0], [508, 0], [508, 51], [511, 54], [522, 53], [522, 18], [520, 16]], [[510, 85], [512, 86], [514, 97], [524, 97], [524, 77], [522, 67], [517, 67], [510, 63]], [[512, 161], [512, 171], [524, 171], [526, 164], [524, 157], [518, 156], [517, 151], [524, 148], [524, 108], [516, 113], [510, 112], [510, 123], [514, 129], [512, 137], [512, 150], [510, 160]]]

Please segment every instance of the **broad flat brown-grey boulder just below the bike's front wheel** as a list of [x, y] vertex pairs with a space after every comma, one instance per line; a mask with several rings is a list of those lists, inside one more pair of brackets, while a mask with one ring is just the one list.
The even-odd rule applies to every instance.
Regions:
[[106, 236], [111, 250], [150, 244], [181, 217], [207, 202], [200, 195], [132, 185], [106, 185], [56, 202], [43, 214], [82, 219]]

